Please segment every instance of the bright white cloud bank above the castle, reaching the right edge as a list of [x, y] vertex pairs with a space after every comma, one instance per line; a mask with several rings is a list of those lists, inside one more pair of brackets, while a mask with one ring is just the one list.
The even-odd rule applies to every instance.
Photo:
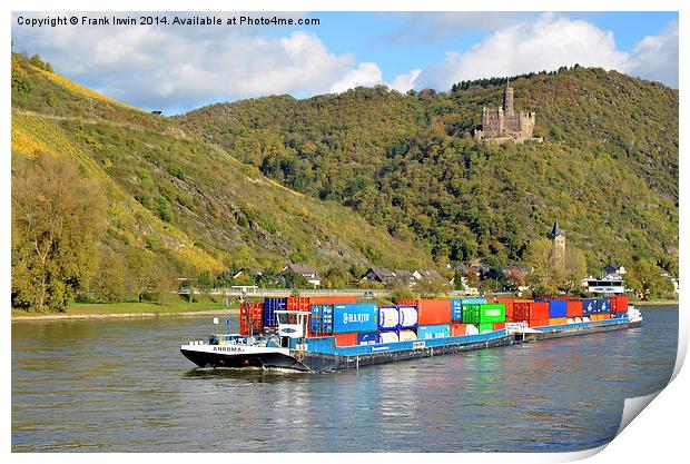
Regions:
[[426, 68], [415, 88], [447, 90], [461, 80], [513, 76], [562, 66], [601, 67], [678, 87], [678, 22], [645, 37], [631, 53], [615, 46], [613, 32], [584, 20], [544, 13], [535, 21], [501, 28], [465, 52], [448, 51]]

